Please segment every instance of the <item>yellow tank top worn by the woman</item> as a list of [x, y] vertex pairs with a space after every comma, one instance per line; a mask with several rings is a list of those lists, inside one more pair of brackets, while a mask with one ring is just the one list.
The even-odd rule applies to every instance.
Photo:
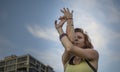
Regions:
[[71, 65], [69, 62], [66, 63], [65, 72], [93, 72], [87, 62], [83, 60], [80, 64]]

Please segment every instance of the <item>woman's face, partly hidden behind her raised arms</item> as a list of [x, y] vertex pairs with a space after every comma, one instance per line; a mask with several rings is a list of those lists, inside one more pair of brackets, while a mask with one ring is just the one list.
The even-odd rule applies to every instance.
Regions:
[[75, 32], [75, 41], [74, 44], [79, 47], [84, 47], [85, 45], [85, 38], [81, 32]]

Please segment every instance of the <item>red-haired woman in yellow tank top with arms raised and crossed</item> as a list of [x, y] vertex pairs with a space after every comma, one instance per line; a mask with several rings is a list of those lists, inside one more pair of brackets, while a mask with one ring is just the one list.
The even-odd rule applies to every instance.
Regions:
[[[81, 29], [74, 29], [73, 11], [63, 8], [64, 14], [55, 27], [60, 35], [60, 41], [65, 48], [62, 56], [64, 72], [97, 72], [99, 54], [93, 49], [88, 35]], [[66, 33], [62, 27], [67, 22]]]

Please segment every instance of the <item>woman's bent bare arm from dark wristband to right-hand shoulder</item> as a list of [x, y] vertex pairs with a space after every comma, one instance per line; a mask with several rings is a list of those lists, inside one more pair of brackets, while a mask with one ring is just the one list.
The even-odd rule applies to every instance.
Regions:
[[77, 46], [74, 46], [67, 36], [61, 38], [61, 43], [63, 44], [64, 48], [68, 53], [73, 54], [75, 56], [79, 56], [81, 58], [86, 58], [90, 60], [97, 60], [99, 57], [98, 52], [94, 49], [82, 49]]

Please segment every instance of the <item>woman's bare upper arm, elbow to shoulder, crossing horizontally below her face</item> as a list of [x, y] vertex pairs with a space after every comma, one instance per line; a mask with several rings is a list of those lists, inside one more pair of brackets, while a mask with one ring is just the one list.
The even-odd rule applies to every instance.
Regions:
[[73, 46], [70, 50], [70, 53], [79, 56], [81, 58], [89, 59], [89, 60], [97, 60], [99, 55], [98, 52], [94, 49], [82, 49], [77, 46]]

